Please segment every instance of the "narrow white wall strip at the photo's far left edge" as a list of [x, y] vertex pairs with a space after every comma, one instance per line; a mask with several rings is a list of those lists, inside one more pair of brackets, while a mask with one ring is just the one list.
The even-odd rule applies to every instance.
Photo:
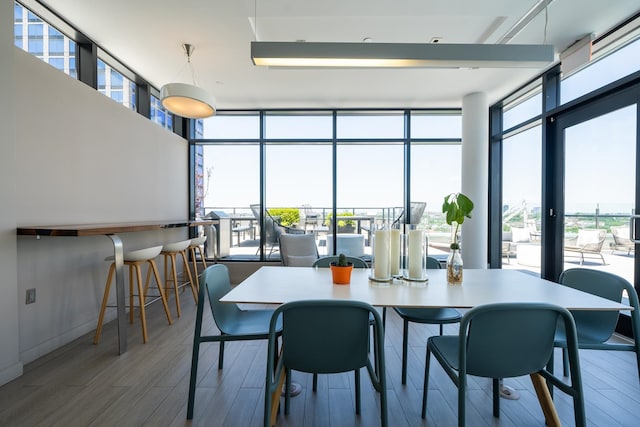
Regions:
[[22, 374], [16, 270], [13, 2], [0, 2], [0, 384]]

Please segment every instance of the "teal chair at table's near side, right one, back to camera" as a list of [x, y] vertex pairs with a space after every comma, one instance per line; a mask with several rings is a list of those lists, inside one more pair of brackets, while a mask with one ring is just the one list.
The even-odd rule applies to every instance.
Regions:
[[[553, 356], [558, 323], [567, 332], [570, 383], [545, 366]], [[493, 416], [500, 415], [498, 378], [539, 374], [573, 398], [576, 426], [584, 426], [585, 409], [576, 326], [565, 308], [543, 303], [496, 303], [469, 310], [458, 335], [430, 337], [424, 370], [422, 418], [427, 413], [431, 355], [458, 387], [458, 426], [466, 417], [467, 375], [493, 379]]]

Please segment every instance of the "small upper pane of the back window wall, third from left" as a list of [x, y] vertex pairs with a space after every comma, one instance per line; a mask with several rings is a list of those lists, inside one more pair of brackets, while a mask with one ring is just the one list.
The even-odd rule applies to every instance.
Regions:
[[349, 138], [404, 138], [402, 113], [338, 114], [337, 135]]

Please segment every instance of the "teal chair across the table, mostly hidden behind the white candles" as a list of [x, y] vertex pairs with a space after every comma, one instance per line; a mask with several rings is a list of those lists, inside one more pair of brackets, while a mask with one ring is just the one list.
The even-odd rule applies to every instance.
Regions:
[[[440, 261], [433, 257], [427, 257], [427, 269], [440, 269]], [[429, 325], [440, 325], [440, 335], [443, 332], [443, 325], [447, 323], [458, 323], [462, 314], [455, 308], [393, 308], [398, 316], [402, 318], [402, 384], [407, 383], [407, 357], [409, 347], [409, 322], [423, 323]]]

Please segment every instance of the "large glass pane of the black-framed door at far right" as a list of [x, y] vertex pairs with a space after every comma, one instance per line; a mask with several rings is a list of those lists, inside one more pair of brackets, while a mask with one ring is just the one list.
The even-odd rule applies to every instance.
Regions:
[[565, 130], [565, 269], [582, 265], [633, 283], [636, 117], [632, 105]]

